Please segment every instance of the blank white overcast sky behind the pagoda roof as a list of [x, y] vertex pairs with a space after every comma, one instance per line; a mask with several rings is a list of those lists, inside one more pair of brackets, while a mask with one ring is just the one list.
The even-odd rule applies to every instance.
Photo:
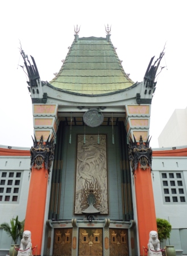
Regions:
[[19, 40], [26, 54], [34, 56], [41, 80], [50, 81], [73, 42], [76, 24], [81, 25], [80, 37], [105, 37], [104, 25], [111, 24], [111, 41], [134, 82], [143, 80], [151, 57], [158, 57], [167, 42], [161, 62], [167, 68], [152, 100], [153, 148], [174, 109], [186, 108], [186, 1], [10, 0], [1, 1], [0, 9], [0, 144], [32, 146], [32, 105], [26, 75], [18, 66], [23, 65]]

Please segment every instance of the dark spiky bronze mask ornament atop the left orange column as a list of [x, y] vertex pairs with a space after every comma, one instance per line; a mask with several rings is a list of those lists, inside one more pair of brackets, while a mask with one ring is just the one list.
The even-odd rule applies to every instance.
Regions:
[[[50, 135], [49, 135], [50, 136]], [[48, 173], [50, 172], [51, 164], [54, 159], [54, 140], [53, 138], [49, 142], [49, 137], [47, 139], [47, 142], [45, 144], [43, 143], [43, 135], [41, 135], [41, 139], [39, 143], [32, 138], [34, 146], [31, 147], [31, 170], [32, 167], [37, 168], [38, 170], [40, 168], [43, 168], [43, 163], [45, 164], [45, 169], [48, 170]]]

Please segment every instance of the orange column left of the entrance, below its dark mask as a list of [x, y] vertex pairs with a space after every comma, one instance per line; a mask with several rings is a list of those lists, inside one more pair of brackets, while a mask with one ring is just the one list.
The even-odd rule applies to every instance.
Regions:
[[24, 230], [31, 231], [32, 247], [38, 245], [37, 255], [41, 255], [47, 186], [48, 171], [32, 167]]

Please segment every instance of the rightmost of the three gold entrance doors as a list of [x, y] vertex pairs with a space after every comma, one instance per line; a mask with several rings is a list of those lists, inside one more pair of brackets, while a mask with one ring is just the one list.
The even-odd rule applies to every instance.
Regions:
[[110, 256], [128, 256], [128, 229], [110, 230]]

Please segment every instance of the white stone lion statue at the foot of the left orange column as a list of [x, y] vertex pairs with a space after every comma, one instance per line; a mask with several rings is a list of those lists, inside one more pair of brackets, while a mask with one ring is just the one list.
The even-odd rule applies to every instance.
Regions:
[[23, 238], [20, 243], [20, 251], [18, 253], [18, 256], [31, 255], [31, 250], [32, 250], [31, 232], [29, 230], [24, 230]]

